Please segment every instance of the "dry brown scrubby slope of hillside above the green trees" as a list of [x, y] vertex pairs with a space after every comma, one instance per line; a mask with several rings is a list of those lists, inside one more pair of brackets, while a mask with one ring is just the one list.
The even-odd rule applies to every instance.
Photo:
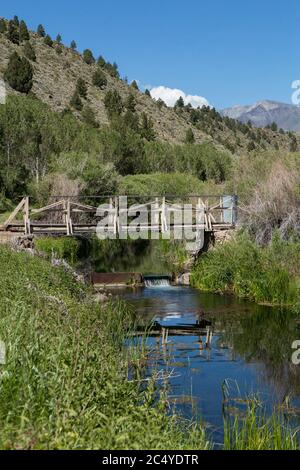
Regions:
[[[137, 113], [141, 115], [144, 112], [151, 118], [158, 140], [182, 143], [186, 138], [186, 132], [192, 127], [196, 143], [212, 142], [217, 148], [225, 147], [237, 154], [255, 148], [289, 150], [291, 145], [295, 147], [294, 137], [290, 135], [273, 132], [270, 129], [256, 130], [249, 126], [243, 127], [209, 108], [202, 110], [193, 110], [189, 107], [168, 108], [163, 103], [154, 101], [151, 96], [134, 89], [125, 80], [112, 76], [105, 67], [100, 68], [106, 77], [107, 85], [99, 89], [93, 85], [92, 79], [95, 70], [99, 69], [97, 62], [87, 64], [77, 51], [55, 41], [47, 45], [44, 37], [34, 32], [29, 34], [36, 55], [36, 60], [31, 61], [34, 76], [30, 93], [47, 103], [54, 111], [62, 112], [70, 107], [76, 82], [79, 78], [83, 78], [87, 85], [84, 105], [92, 108], [100, 126], [109, 124], [104, 106], [105, 95], [109, 90], [117, 90], [123, 102], [130, 94], [134, 94]], [[0, 34], [0, 77], [3, 77], [12, 52], [24, 55], [24, 42], [15, 44], [7, 36], [7, 32]], [[9, 94], [17, 93], [8, 84], [7, 91]], [[72, 109], [72, 112], [80, 118], [79, 111]]]

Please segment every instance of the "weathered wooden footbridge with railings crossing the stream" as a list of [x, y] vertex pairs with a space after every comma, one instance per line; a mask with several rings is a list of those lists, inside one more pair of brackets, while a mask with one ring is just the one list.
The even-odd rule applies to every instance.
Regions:
[[237, 220], [236, 196], [97, 196], [84, 199], [88, 204], [83, 199], [61, 196], [51, 204], [36, 207], [26, 196], [0, 225], [0, 234], [97, 233], [126, 238], [130, 232], [228, 230], [235, 228]]

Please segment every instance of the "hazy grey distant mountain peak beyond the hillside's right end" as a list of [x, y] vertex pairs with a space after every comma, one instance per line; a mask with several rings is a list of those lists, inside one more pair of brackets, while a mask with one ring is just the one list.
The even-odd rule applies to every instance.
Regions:
[[256, 127], [276, 122], [278, 128], [300, 132], [300, 107], [292, 104], [265, 100], [249, 106], [233, 106], [220, 113], [243, 123], [251, 121]]

